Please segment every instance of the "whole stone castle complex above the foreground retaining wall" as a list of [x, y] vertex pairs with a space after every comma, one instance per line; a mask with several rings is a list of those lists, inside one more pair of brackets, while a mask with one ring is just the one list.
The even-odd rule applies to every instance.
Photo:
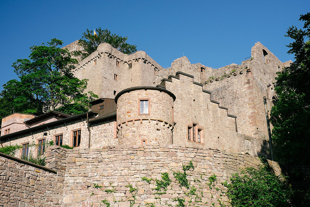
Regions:
[[[78, 48], [77, 41], [64, 48], [75, 50]], [[155, 151], [161, 152], [166, 146], [165, 155], [174, 157], [174, 153], [181, 153], [180, 157], [184, 157], [184, 160], [188, 159], [181, 151], [198, 153], [200, 149], [201, 157], [210, 153], [212, 156], [219, 153], [219, 157], [233, 154], [236, 157], [251, 157], [242, 159], [252, 159], [250, 163], [253, 164], [254, 157], [268, 156], [263, 97], [269, 99], [267, 108], [270, 110], [270, 100], [276, 95], [272, 85], [276, 72], [290, 63], [282, 63], [258, 42], [252, 47], [251, 56], [241, 65], [231, 64], [213, 69], [200, 63], [191, 64], [183, 56], [165, 69], [144, 51], [127, 55], [103, 43], [97, 51], [80, 61], [73, 71], [77, 78], [89, 79], [86, 91], [92, 91], [100, 97], [90, 102], [91, 111], [75, 116], [58, 111], [37, 117], [19, 113], [9, 115], [2, 119], [1, 145], [20, 144], [23, 149], [15, 156], [28, 156], [30, 153], [36, 156], [44, 153], [43, 143], [54, 141], [55, 146], [47, 151], [47, 161], [51, 162], [47, 166], [60, 170], [63, 175], [68, 173], [66, 169], [72, 168], [71, 163], [74, 163], [73, 169], [82, 166], [82, 162], [87, 162], [88, 153], [100, 158], [97, 157], [98, 153], [103, 156], [103, 152], [112, 146], [117, 146], [127, 154], [133, 153], [129, 150], [131, 148], [133, 151], [144, 150], [144, 154], [140, 155], [137, 150], [135, 153], [138, 154], [133, 157], [151, 156], [145, 154], [148, 153], [145, 149], [157, 149], [158, 146], [160, 150]], [[29, 145], [32, 142], [39, 147], [31, 150]], [[59, 148], [61, 145], [69, 145], [74, 149]], [[81, 163], [75, 158], [77, 153], [82, 153]], [[49, 158], [56, 154], [66, 157], [66, 160]], [[118, 155], [118, 159], [125, 160], [121, 161], [122, 164], [131, 159], [126, 157], [122, 159]], [[165, 159], [158, 162], [164, 163]], [[223, 160], [219, 160], [214, 163], [222, 163]], [[53, 161], [63, 166], [53, 165]], [[145, 168], [154, 170], [148, 163], [144, 164]], [[242, 162], [239, 164], [242, 165]], [[207, 172], [203, 166], [199, 169]], [[223, 169], [222, 164], [219, 166], [219, 169]], [[221, 174], [223, 179], [238, 170], [237, 167], [232, 170], [227, 166], [224, 171], [219, 169], [215, 171], [224, 172]], [[160, 177], [160, 173], [157, 174]], [[82, 176], [81, 172], [76, 176]], [[123, 178], [118, 176], [117, 179]], [[74, 194], [71, 192], [74, 189], [71, 188], [71, 182], [62, 182], [62, 189], [66, 185], [67, 191], [60, 195], [59, 203], [53, 205], [69, 206], [69, 203], [77, 201], [74, 196], [69, 196]], [[85, 182], [91, 185], [87, 179]], [[81, 206], [90, 206], [85, 200], [79, 200], [84, 202]]]

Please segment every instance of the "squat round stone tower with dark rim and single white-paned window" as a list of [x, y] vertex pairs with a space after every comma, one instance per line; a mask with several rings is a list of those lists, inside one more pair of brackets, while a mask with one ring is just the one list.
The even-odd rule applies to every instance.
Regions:
[[172, 144], [175, 95], [157, 87], [127, 88], [115, 97], [119, 144]]

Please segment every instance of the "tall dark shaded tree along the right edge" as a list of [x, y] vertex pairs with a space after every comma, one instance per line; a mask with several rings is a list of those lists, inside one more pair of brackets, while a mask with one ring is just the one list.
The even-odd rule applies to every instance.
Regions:
[[276, 78], [272, 139], [277, 161], [310, 165], [310, 13], [299, 20], [303, 29], [292, 26], [285, 35], [294, 40], [287, 47], [295, 61]]

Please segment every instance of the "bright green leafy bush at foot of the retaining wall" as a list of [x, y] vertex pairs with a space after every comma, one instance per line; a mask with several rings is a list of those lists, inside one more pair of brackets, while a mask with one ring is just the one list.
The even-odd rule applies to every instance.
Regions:
[[292, 189], [285, 178], [276, 176], [266, 164], [235, 173], [227, 187], [230, 204], [233, 207], [285, 207], [291, 206]]

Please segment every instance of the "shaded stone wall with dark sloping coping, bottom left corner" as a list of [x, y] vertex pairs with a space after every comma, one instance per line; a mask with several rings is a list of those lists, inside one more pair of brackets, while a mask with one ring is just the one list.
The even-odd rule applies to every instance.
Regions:
[[0, 171], [0, 206], [61, 206], [61, 172], [2, 153]]

